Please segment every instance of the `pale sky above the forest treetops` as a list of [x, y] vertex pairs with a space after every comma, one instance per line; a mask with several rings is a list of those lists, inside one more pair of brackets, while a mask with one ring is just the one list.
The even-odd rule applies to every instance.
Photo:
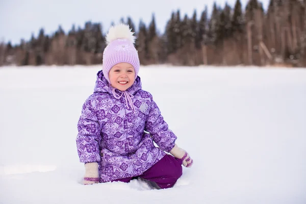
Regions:
[[[197, 11], [197, 17], [208, 6], [209, 12], [213, 6], [212, 0], [154, 0], [154, 1], [99, 1], [99, 0], [0, 0], [0, 41], [19, 43], [20, 39], [29, 40], [32, 33], [38, 36], [40, 28], [46, 34], [55, 32], [59, 25], [68, 32], [72, 24], [84, 28], [86, 21], [100, 22], [103, 32], [107, 32], [112, 22], [117, 23], [121, 17], [131, 16], [136, 27], [140, 19], [148, 25], [155, 13], [157, 29], [163, 33], [171, 12], [181, 10], [181, 17], [185, 14], [192, 16]], [[224, 6], [225, 2], [234, 7], [236, 0], [216, 0]], [[264, 8], [268, 1], [263, 1]], [[243, 8], [247, 0], [241, 0]]]

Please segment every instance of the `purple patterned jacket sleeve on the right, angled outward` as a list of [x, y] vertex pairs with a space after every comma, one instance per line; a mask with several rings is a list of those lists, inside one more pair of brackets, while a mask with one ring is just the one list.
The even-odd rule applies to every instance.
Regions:
[[149, 114], [145, 122], [145, 131], [149, 132], [154, 142], [164, 151], [170, 152], [175, 145], [176, 136], [168, 129], [168, 124], [164, 121], [161, 111], [153, 100], [149, 107]]

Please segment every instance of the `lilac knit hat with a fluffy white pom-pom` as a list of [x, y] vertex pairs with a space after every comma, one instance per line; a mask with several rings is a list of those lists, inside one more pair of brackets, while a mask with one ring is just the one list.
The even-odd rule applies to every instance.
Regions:
[[103, 53], [102, 70], [110, 84], [109, 72], [114, 65], [120, 62], [130, 63], [135, 69], [135, 79], [137, 78], [140, 63], [134, 46], [136, 37], [133, 34], [129, 25], [120, 23], [113, 25], [106, 35], [107, 46]]

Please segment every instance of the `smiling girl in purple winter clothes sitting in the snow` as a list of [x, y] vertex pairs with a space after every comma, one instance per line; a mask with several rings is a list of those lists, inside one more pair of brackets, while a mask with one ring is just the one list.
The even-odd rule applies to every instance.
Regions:
[[182, 164], [190, 167], [192, 159], [175, 144], [176, 136], [152, 95], [142, 90], [129, 25], [111, 27], [106, 40], [102, 70], [78, 122], [84, 184], [127, 183], [140, 177], [162, 189], [171, 188], [182, 175]]

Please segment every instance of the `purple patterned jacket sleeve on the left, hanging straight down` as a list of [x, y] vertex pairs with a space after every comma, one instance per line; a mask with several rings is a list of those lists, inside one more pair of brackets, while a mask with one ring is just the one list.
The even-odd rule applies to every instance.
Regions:
[[94, 110], [95, 100], [92, 97], [85, 101], [78, 122], [77, 149], [80, 162], [99, 162], [99, 143], [101, 126]]

